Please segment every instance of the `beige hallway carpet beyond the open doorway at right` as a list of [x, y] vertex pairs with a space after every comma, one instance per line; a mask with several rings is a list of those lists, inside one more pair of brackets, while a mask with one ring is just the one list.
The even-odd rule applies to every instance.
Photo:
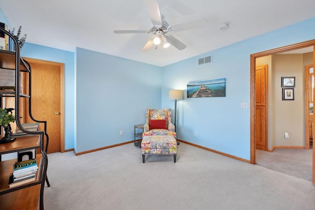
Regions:
[[256, 150], [256, 164], [294, 177], [312, 181], [313, 150]]

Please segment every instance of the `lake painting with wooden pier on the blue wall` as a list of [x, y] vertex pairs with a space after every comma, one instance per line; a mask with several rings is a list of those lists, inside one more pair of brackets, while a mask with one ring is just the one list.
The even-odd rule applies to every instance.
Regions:
[[191, 81], [187, 84], [187, 97], [225, 97], [225, 78], [206, 81]]

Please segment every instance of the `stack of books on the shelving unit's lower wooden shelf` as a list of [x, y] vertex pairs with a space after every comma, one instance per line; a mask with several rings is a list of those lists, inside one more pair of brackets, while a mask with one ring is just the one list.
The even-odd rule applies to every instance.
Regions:
[[38, 166], [36, 159], [16, 162], [9, 178], [9, 187], [15, 187], [35, 180]]

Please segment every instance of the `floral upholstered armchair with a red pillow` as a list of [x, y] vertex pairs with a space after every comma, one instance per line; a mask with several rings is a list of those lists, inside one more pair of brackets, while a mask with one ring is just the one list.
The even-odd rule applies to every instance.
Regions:
[[142, 136], [174, 136], [175, 126], [171, 122], [171, 109], [146, 109], [146, 123]]

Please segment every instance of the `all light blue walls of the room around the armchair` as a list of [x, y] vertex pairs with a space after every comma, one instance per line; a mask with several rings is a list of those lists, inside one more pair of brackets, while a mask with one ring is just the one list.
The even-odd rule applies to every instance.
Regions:
[[[7, 23], [3, 18], [0, 12], [0, 21]], [[315, 39], [314, 26], [315, 18], [164, 67], [30, 43], [22, 56], [65, 63], [65, 149], [82, 152], [132, 140], [133, 125], [144, 122], [145, 108], [173, 109], [168, 90], [181, 89], [178, 138], [249, 160], [250, 55]], [[197, 60], [209, 55], [213, 63], [198, 66]], [[226, 97], [187, 98], [189, 81], [219, 78], [226, 78]], [[241, 109], [241, 102], [248, 109]]]

